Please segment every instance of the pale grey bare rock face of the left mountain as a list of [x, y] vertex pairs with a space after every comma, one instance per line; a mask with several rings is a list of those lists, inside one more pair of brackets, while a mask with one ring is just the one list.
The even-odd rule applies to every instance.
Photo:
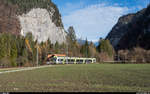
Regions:
[[26, 35], [31, 32], [34, 39], [38, 42], [45, 42], [48, 38], [52, 43], [58, 41], [65, 42], [66, 33], [62, 27], [57, 27], [52, 22], [53, 13], [49, 13], [46, 9], [36, 8], [19, 17], [21, 24], [21, 34]]

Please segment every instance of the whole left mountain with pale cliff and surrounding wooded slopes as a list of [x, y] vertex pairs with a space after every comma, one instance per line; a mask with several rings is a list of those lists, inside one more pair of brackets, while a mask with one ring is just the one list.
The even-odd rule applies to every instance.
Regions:
[[38, 42], [66, 41], [61, 15], [51, 0], [0, 0], [0, 32], [31, 32]]

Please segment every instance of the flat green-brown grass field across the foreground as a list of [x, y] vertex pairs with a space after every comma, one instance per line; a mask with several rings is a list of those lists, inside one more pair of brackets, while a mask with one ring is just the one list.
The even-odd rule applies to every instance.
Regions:
[[57, 65], [0, 74], [0, 92], [150, 92], [150, 64]]

